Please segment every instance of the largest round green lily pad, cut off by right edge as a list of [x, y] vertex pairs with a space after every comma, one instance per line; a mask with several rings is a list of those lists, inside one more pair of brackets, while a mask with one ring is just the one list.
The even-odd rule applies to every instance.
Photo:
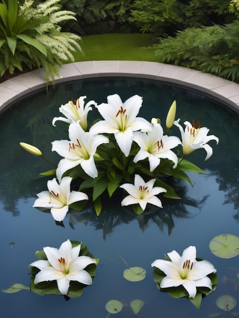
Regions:
[[222, 259], [230, 259], [239, 255], [239, 236], [221, 234], [215, 236], [209, 243], [212, 253]]

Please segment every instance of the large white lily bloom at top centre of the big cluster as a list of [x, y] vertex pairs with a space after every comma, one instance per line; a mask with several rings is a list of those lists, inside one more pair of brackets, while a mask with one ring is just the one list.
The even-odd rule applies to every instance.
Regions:
[[117, 95], [107, 97], [108, 104], [102, 103], [96, 108], [105, 120], [101, 120], [92, 126], [93, 131], [100, 133], [114, 134], [116, 142], [127, 157], [130, 153], [133, 142], [133, 132], [141, 130], [149, 132], [152, 125], [146, 119], [136, 117], [142, 106], [142, 98], [134, 95], [125, 103]]

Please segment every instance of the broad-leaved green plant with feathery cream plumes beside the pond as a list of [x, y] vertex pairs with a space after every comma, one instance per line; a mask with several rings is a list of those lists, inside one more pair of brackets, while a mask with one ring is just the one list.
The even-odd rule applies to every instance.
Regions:
[[59, 76], [57, 66], [74, 61], [81, 50], [80, 37], [61, 31], [60, 23], [75, 19], [71, 11], [61, 11], [61, 0], [47, 0], [34, 7], [34, 0], [3, 1], [0, 24], [0, 75], [44, 67], [47, 83]]

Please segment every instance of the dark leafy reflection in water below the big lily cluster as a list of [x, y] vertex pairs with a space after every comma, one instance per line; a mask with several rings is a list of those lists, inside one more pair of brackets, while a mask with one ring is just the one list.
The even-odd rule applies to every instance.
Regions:
[[102, 230], [104, 240], [117, 226], [129, 224], [135, 219], [138, 221], [139, 228], [142, 231], [145, 231], [150, 224], [156, 224], [162, 232], [166, 226], [168, 235], [170, 236], [175, 226], [174, 220], [177, 218], [194, 217], [196, 214], [189, 212], [188, 208], [194, 207], [200, 211], [208, 197], [205, 196], [200, 200], [191, 199], [187, 196], [186, 188], [183, 188], [181, 196], [181, 200], [163, 199], [162, 209], [151, 206], [150, 209], [146, 209], [143, 214], [139, 215], [136, 215], [130, 208], [121, 207], [121, 200], [117, 200], [114, 197], [104, 205], [99, 216], [96, 216], [93, 207], [88, 207], [83, 211], [72, 210], [67, 216], [69, 217], [69, 224], [72, 229], [75, 228], [77, 223], [90, 224], [96, 230]]

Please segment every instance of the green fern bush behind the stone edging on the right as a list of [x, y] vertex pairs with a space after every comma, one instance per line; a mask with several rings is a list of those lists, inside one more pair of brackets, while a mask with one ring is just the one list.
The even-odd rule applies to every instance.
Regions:
[[239, 83], [239, 21], [188, 28], [155, 45], [160, 62], [212, 73]]

